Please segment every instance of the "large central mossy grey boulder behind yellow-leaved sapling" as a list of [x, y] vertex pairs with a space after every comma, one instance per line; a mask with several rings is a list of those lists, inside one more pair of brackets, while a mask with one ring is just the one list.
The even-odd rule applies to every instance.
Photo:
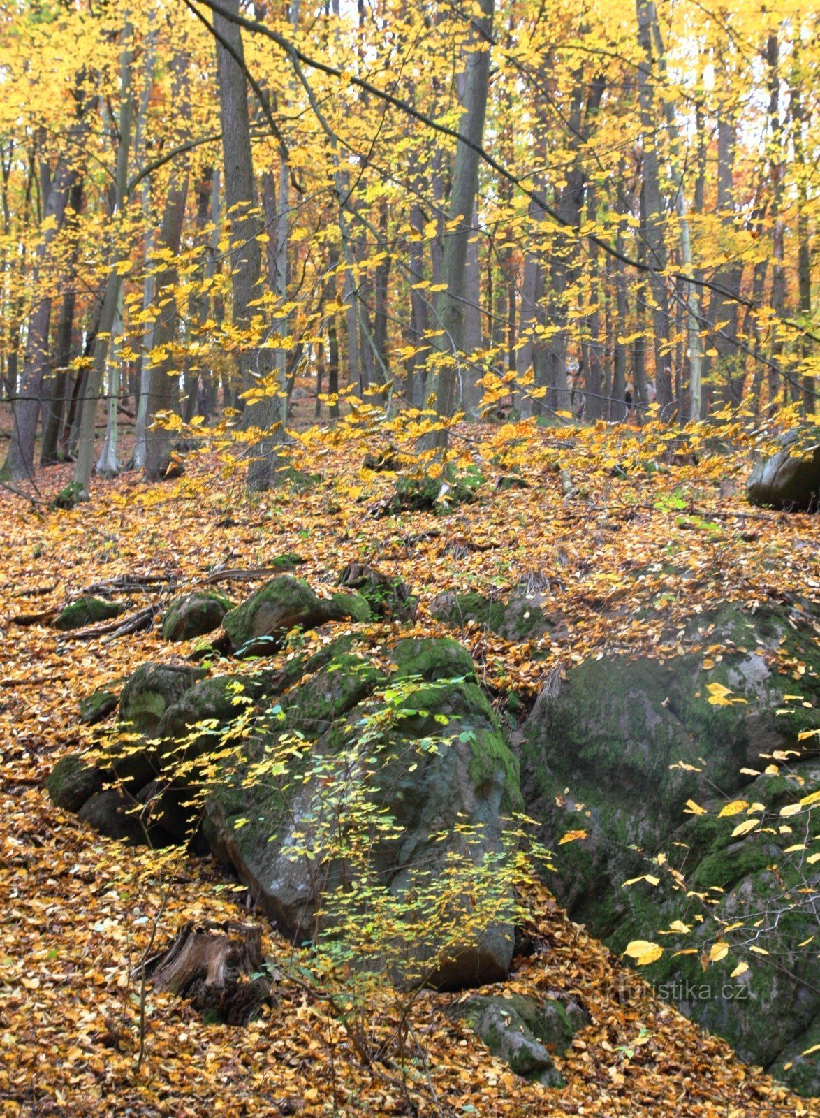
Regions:
[[[309, 938], [317, 919], [333, 925], [334, 890], [352, 865], [392, 896], [409, 898], [410, 911], [418, 892], [446, 880], [454, 860], [479, 865], [502, 856], [504, 817], [519, 803], [517, 766], [470, 657], [452, 641], [408, 641], [394, 660], [389, 698], [372, 698], [383, 678], [351, 653], [285, 694], [267, 738], [249, 746], [246, 766], [208, 803], [211, 847], [297, 941]], [[288, 755], [290, 742], [296, 750]], [[249, 781], [254, 765], [263, 771], [263, 759], [279, 756], [283, 745], [293, 756], [283, 787]], [[353, 787], [345, 781], [364, 788], [359, 802], [372, 805], [364, 870], [361, 861], [341, 859], [332, 837], [334, 813]], [[325, 849], [336, 855], [330, 862]], [[492, 890], [489, 874], [486, 887]], [[469, 906], [469, 898], [460, 903]], [[455, 917], [463, 939], [448, 941], [445, 953], [440, 942], [426, 941], [423, 927], [408, 930], [402, 975], [446, 988], [503, 978], [512, 926], [496, 920], [463, 931], [468, 921], [468, 912]]]

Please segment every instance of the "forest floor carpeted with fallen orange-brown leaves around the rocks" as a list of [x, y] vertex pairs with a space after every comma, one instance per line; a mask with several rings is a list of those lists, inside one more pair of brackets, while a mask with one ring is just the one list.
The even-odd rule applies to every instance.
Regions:
[[[668, 622], [711, 603], [820, 600], [817, 518], [752, 509], [744, 484], [753, 448], [742, 426], [673, 439], [661, 428], [460, 428], [461, 466], [486, 477], [476, 501], [438, 511], [390, 510], [395, 480], [362, 468], [380, 437], [355, 425], [303, 432], [294, 464], [318, 475], [255, 498], [244, 470], [212, 453], [150, 486], [135, 473], [97, 481], [71, 511], [45, 503], [70, 467], [38, 473], [41, 501], [0, 494], [0, 1115], [305, 1116], [409, 1112], [395, 1068], [362, 1067], [321, 1003], [283, 983], [278, 1004], [246, 1029], [206, 1025], [189, 1006], [149, 991], [145, 1058], [132, 969], [154, 926], [170, 939], [185, 920], [236, 919], [245, 899], [208, 859], [155, 855], [102, 839], [55, 809], [42, 790], [59, 756], [89, 737], [80, 697], [145, 661], [180, 662], [159, 626], [105, 641], [57, 634], [48, 610], [95, 582], [162, 575], [177, 589], [217, 565], [255, 569], [298, 552], [320, 593], [350, 560], [400, 575], [420, 599], [416, 626], [448, 631], [427, 606], [441, 590], [508, 596], [537, 584], [565, 619], [560, 638], [513, 645], [473, 627], [459, 634], [493, 695], [533, 695], [547, 672], [604, 650], [673, 657]], [[562, 471], [569, 471], [563, 473]], [[514, 474], [524, 487], [499, 489]], [[237, 596], [256, 582], [226, 588]], [[648, 603], [662, 614], [641, 619]], [[133, 608], [161, 596], [135, 597]], [[40, 624], [19, 625], [21, 614]], [[374, 625], [374, 637], [399, 635]], [[404, 635], [406, 629], [402, 631]], [[556, 853], [560, 873], [560, 851]], [[570, 922], [545, 890], [532, 898], [543, 950], [518, 958], [509, 988], [575, 992], [591, 1024], [556, 1064], [561, 1090], [528, 1084], [444, 1014], [452, 995], [423, 994], [413, 1029], [421, 1114], [820, 1115], [741, 1063]], [[248, 913], [244, 913], [250, 918]], [[649, 929], [648, 929], [649, 930]], [[274, 957], [285, 946], [266, 937]], [[385, 1005], [374, 1003], [374, 1017]], [[433, 1093], [435, 1092], [435, 1093]]]

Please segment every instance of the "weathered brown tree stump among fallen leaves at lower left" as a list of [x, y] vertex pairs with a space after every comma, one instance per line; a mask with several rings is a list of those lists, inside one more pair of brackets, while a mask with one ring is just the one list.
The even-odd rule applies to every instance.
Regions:
[[209, 1023], [247, 1025], [270, 997], [261, 968], [258, 926], [189, 921], [149, 959], [145, 976], [154, 989], [190, 1001]]

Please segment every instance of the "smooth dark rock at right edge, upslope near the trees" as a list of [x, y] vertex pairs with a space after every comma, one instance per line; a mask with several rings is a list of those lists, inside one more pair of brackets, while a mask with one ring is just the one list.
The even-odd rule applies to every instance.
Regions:
[[820, 511], [820, 427], [782, 435], [782, 449], [759, 462], [746, 483], [752, 504]]

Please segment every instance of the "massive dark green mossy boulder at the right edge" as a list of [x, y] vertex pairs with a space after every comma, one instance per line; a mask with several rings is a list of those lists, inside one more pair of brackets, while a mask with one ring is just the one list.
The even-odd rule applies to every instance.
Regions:
[[[660, 942], [662, 957], [641, 974], [744, 1059], [770, 1065], [820, 1008], [813, 957], [799, 946], [816, 931], [800, 890], [816, 889], [817, 874], [808, 862], [797, 864], [800, 855], [783, 853], [797, 840], [779, 817], [819, 784], [810, 739], [799, 737], [820, 719], [817, 629], [803, 609], [752, 614], [726, 605], [696, 618], [680, 641], [709, 650], [714, 666], [704, 670], [704, 652], [693, 650], [666, 663], [606, 656], [571, 669], [563, 682], [553, 679], [518, 736], [523, 792], [542, 840], [557, 852], [551, 885], [570, 915], [617, 951], [632, 939]], [[779, 671], [778, 659], [807, 665], [799, 684]], [[709, 703], [715, 683], [742, 701]], [[795, 692], [803, 701], [784, 702]], [[755, 778], [786, 749], [795, 750], [785, 758], [793, 775], [783, 768]], [[746, 816], [718, 818], [725, 797], [765, 804], [772, 826], [733, 839]], [[687, 800], [707, 814], [685, 814]], [[588, 837], [559, 845], [576, 830]], [[659, 853], [714, 902], [703, 923], [693, 920], [685, 891], [651, 861]], [[646, 873], [659, 884], [623, 888]], [[674, 920], [693, 930], [675, 931]], [[742, 921], [779, 965], [749, 955], [749, 972], [732, 979], [742, 950], [704, 973], [699, 945], [714, 941], [719, 920]], [[674, 957], [693, 947], [695, 954]]]

